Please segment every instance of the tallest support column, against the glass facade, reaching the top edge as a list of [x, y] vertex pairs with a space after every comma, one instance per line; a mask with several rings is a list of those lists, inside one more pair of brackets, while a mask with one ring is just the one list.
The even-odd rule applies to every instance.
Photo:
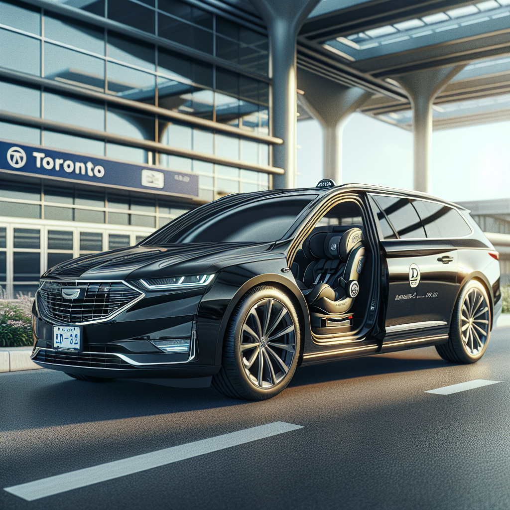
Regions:
[[272, 79], [273, 165], [285, 175], [273, 176], [273, 188], [294, 188], [296, 179], [296, 38], [319, 0], [250, 0], [264, 19], [269, 34], [269, 77]]

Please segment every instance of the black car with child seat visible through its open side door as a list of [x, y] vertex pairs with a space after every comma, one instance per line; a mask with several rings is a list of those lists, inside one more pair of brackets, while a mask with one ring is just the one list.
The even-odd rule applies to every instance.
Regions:
[[501, 312], [498, 257], [467, 210], [423, 193], [229, 195], [47, 271], [32, 359], [98, 382], [212, 378], [251, 400], [299, 365], [427, 345], [474, 363]]

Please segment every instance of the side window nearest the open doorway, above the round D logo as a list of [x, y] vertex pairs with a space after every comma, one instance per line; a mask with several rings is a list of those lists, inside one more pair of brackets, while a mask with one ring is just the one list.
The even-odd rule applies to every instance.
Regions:
[[[372, 198], [380, 210], [377, 218], [379, 219], [382, 235], [385, 239], [395, 239], [393, 231], [398, 234], [400, 239], [423, 239], [426, 237], [420, 217], [409, 199], [381, 195], [372, 195]], [[385, 223], [390, 227], [391, 234]], [[386, 232], [388, 232], [388, 237]]]

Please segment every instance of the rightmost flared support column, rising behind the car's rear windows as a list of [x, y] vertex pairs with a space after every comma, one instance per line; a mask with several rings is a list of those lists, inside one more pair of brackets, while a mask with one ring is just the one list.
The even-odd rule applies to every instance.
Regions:
[[414, 189], [428, 193], [432, 139], [432, 103], [464, 65], [428, 69], [394, 77], [413, 108]]

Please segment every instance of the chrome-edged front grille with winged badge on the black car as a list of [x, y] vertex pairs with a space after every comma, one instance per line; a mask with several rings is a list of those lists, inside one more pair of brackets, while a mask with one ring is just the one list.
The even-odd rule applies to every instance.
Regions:
[[[82, 289], [80, 299], [67, 299], [62, 289]], [[104, 319], [125, 307], [142, 293], [122, 282], [45, 282], [37, 293], [42, 315], [64, 324]]]

